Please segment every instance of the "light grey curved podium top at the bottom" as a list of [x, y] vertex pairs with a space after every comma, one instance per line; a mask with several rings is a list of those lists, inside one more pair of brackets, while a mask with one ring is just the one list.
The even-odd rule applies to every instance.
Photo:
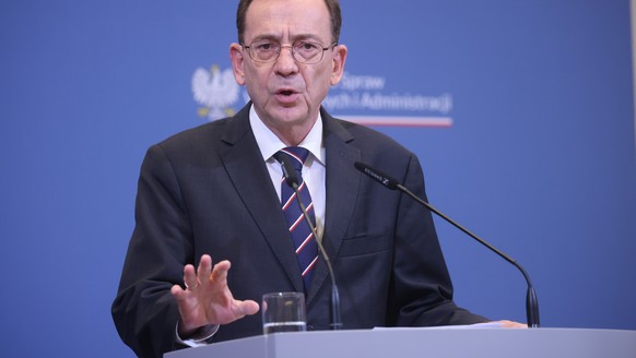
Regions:
[[165, 358], [634, 358], [636, 331], [394, 327], [276, 333], [164, 355]]

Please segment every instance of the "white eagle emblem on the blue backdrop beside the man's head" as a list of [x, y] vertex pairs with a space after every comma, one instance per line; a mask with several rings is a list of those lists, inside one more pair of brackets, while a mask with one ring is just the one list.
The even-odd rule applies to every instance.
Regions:
[[192, 74], [192, 95], [202, 106], [198, 114], [209, 120], [233, 116], [236, 111], [232, 105], [238, 100], [239, 91], [232, 69], [221, 71], [213, 64], [210, 70], [198, 68]]

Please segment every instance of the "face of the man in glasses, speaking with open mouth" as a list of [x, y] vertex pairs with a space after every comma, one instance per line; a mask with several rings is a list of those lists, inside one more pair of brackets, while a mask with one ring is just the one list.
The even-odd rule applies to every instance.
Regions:
[[279, 138], [290, 132], [307, 134], [329, 86], [342, 77], [346, 48], [332, 49], [331, 37], [323, 0], [255, 0], [249, 7], [245, 45], [268, 40], [291, 46], [310, 40], [329, 47], [320, 62], [305, 64], [294, 60], [290, 47], [282, 48], [274, 62], [262, 63], [238, 44], [231, 46], [236, 81], [247, 87], [257, 114]]

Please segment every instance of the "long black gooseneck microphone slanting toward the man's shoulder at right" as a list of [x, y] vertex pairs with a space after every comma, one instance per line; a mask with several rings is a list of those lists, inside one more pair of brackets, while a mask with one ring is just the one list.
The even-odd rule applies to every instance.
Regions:
[[528, 320], [528, 327], [538, 329], [540, 326], [540, 323], [539, 323], [539, 300], [537, 298], [537, 293], [534, 291], [534, 287], [532, 286], [532, 283], [530, 282], [530, 276], [528, 275], [528, 273], [526, 272], [523, 266], [521, 266], [521, 264], [519, 264], [517, 261], [513, 260], [513, 258], [510, 258], [509, 255], [499, 251], [497, 248], [490, 244], [488, 242], [486, 242], [485, 240], [483, 240], [482, 238], [480, 238], [475, 234], [471, 232], [470, 230], [468, 230], [463, 226], [459, 225], [457, 222], [455, 222], [450, 217], [444, 215], [441, 212], [439, 212], [433, 205], [428, 204], [424, 200], [420, 199], [417, 195], [413, 194], [409, 189], [407, 189], [402, 184], [400, 184], [400, 182], [397, 179], [394, 179], [394, 178], [392, 178], [392, 177], [390, 177], [390, 176], [388, 176], [388, 175], [386, 175], [377, 169], [374, 169], [370, 166], [368, 166], [364, 163], [361, 163], [361, 162], [355, 162], [354, 166], [357, 170], [366, 174], [367, 176], [375, 179], [376, 181], [378, 181], [380, 184], [387, 187], [388, 189], [399, 190], [399, 191], [405, 193], [407, 195], [411, 196], [413, 200], [415, 200], [420, 204], [424, 205], [431, 212], [435, 213], [437, 216], [441, 217], [443, 219], [445, 219], [446, 222], [448, 222], [452, 226], [457, 227], [458, 229], [460, 229], [461, 231], [463, 231], [464, 234], [467, 234], [468, 236], [470, 236], [471, 238], [476, 240], [479, 243], [485, 246], [491, 251], [495, 252], [500, 258], [503, 258], [504, 260], [511, 263], [515, 267], [517, 267], [521, 272], [521, 274], [523, 275], [523, 278], [526, 278], [526, 283], [528, 284], [528, 293], [526, 296], [526, 317]]

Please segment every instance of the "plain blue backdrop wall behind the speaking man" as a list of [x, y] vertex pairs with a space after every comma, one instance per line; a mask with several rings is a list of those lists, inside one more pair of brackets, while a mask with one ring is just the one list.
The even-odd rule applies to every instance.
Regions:
[[[197, 69], [229, 69], [236, 2], [0, 2], [0, 356], [132, 356], [109, 309], [139, 167], [244, 103], [192, 92]], [[544, 326], [635, 330], [628, 1], [342, 8], [333, 114], [419, 155], [429, 200], [530, 272]], [[521, 275], [437, 227], [457, 301], [525, 321]]]

